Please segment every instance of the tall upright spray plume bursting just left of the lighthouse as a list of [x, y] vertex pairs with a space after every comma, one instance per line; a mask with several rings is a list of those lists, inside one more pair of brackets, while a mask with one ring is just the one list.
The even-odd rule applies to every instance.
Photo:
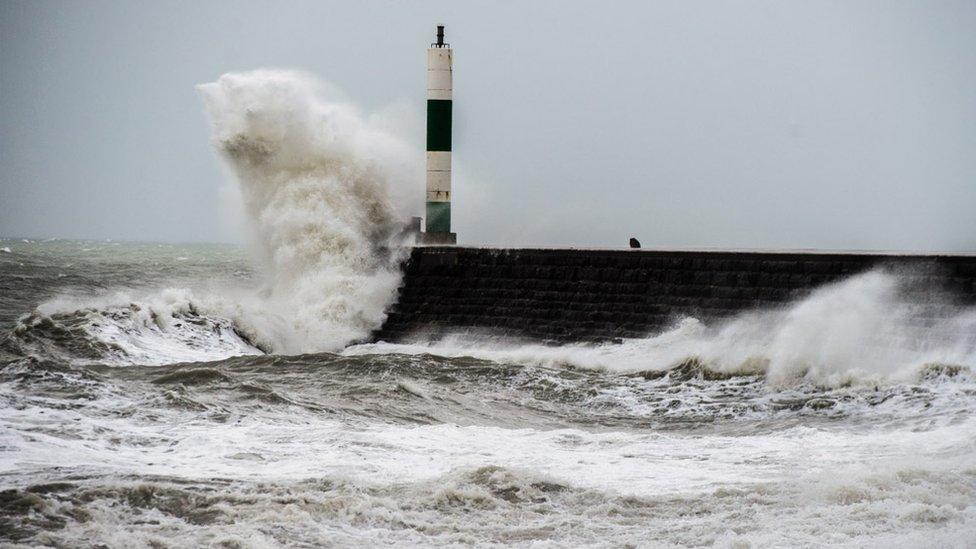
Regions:
[[378, 327], [400, 281], [394, 200], [411, 149], [295, 71], [225, 74], [198, 86], [232, 168], [263, 299], [244, 331], [274, 352], [336, 350]]

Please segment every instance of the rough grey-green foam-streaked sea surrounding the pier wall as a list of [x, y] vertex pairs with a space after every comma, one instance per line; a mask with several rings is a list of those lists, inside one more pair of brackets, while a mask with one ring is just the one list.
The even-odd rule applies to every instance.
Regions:
[[293, 354], [235, 247], [5, 248], [2, 545], [976, 539], [976, 317], [921, 341], [892, 324], [885, 278], [778, 327]]

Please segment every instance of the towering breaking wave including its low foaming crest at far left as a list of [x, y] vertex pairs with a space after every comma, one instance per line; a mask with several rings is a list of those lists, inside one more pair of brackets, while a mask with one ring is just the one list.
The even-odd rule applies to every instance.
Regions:
[[398, 193], [418, 180], [418, 155], [299, 72], [225, 74], [198, 90], [236, 182], [255, 284], [57, 297], [20, 319], [8, 351], [112, 364], [297, 354], [341, 349], [383, 322], [407, 244], [411, 203]]

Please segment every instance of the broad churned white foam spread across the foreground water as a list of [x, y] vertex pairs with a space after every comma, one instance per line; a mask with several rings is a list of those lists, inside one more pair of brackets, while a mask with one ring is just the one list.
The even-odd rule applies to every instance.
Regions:
[[[138, 403], [122, 396], [100, 405], [125, 410]], [[920, 541], [921, 532], [960, 544], [974, 532], [976, 518], [976, 420], [971, 417], [926, 429], [851, 430], [841, 423], [721, 436], [450, 424], [351, 427], [294, 409], [220, 422], [165, 407], [144, 418], [64, 407], [45, 411], [5, 410], [0, 444], [16, 450], [0, 453], [0, 470], [35, 483], [52, 471], [58, 478], [65, 468], [109, 479], [175, 477], [183, 486], [234, 479], [207, 493], [230, 492], [239, 513], [235, 527], [265, 524], [261, 513], [272, 513], [275, 524], [298, 521], [293, 527], [301, 534], [294, 535], [310, 540], [328, 537], [321, 531], [326, 524], [318, 521], [334, 521], [351, 540], [379, 541], [370, 537], [377, 535], [378, 523], [392, 528], [385, 533], [388, 542], [429, 542], [411, 538], [416, 530], [403, 523], [429, 523], [431, 529], [421, 531], [436, 538], [462, 531], [453, 522], [462, 513], [465, 520], [474, 514], [482, 533], [491, 536], [511, 532], [520, 517], [541, 525], [572, 521], [578, 528], [552, 534], [568, 544], [611, 534], [615, 543], [635, 543], [654, 533], [663, 543], [679, 545], [714, 538], [760, 546], [859, 546], [879, 535]], [[72, 425], [72, 436], [46, 434], [45, 425]], [[496, 488], [529, 491], [544, 480], [573, 492], [512, 505], [471, 482], [472, 473], [482, 468], [499, 477], [492, 481]], [[490, 468], [503, 470], [491, 473]], [[6, 482], [21, 482], [18, 478], [8, 476]], [[330, 515], [327, 509], [347, 505], [333, 492], [332, 481], [349, 483], [362, 505]], [[293, 484], [302, 482], [309, 484]], [[237, 498], [234, 491], [248, 486], [257, 486], [255, 494]], [[267, 491], [289, 497], [277, 498], [286, 503], [255, 499]], [[295, 507], [287, 502], [296, 498], [328, 502], [291, 518], [287, 514]], [[119, 514], [129, 512], [118, 504], [110, 511], [111, 499], [105, 505], [105, 515], [93, 525], [108, 529], [99, 536], [118, 528]], [[363, 516], [366, 525], [356, 518]], [[146, 523], [143, 517], [129, 520], [128, 528]], [[172, 527], [186, 536], [198, 530], [180, 523]], [[732, 529], [728, 536], [727, 529]]]

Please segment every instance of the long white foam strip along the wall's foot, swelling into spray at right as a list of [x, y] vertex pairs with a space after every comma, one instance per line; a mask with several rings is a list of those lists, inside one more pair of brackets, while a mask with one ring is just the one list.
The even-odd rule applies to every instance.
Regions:
[[782, 310], [747, 312], [714, 327], [685, 318], [660, 334], [620, 344], [485, 345], [455, 335], [419, 344], [358, 345], [344, 352], [432, 353], [621, 372], [667, 370], [698, 358], [718, 372], [763, 372], [774, 385], [831, 387], [904, 382], [933, 363], [976, 369], [976, 310], [946, 308], [931, 328], [920, 328], [914, 306], [899, 297], [900, 284], [893, 274], [864, 273]]

